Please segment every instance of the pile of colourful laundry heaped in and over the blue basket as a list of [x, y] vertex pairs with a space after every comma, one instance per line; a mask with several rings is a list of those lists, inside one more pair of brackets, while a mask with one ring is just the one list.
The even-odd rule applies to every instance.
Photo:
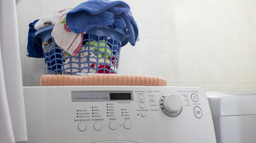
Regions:
[[[52, 30], [52, 37], [54, 39], [54, 43], [50, 44], [51, 41], [45, 41], [42, 45], [38, 45], [34, 41], [35, 33], [47, 26], [54, 25]], [[76, 72], [77, 67], [93, 67], [94, 69], [90, 69], [90, 72], [96, 72], [96, 68], [108, 68], [112, 69], [112, 65], [117, 66], [117, 59], [115, 52], [119, 52], [121, 47], [120, 42], [117, 42], [108, 37], [96, 37], [97, 40], [87, 40], [88, 34], [86, 35], [86, 31], [94, 28], [94, 27], [104, 27], [111, 26], [113, 29], [126, 28], [128, 31], [128, 41], [132, 46], [135, 45], [137, 39], [139, 39], [139, 31], [136, 21], [133, 18], [130, 7], [127, 3], [123, 1], [111, 1], [111, 0], [89, 0], [81, 3], [80, 5], [72, 8], [62, 8], [58, 11], [53, 12], [52, 14], [40, 19], [36, 20], [29, 24], [29, 36], [28, 36], [28, 46], [27, 51], [29, 57], [35, 58], [43, 58], [46, 51], [51, 50], [51, 46], [54, 47], [57, 45], [60, 47], [63, 52], [67, 54], [63, 54], [63, 58], [72, 56], [72, 58], [66, 58], [64, 61], [57, 61], [59, 63], [64, 64], [61, 69], [68, 68], [66, 72]], [[85, 38], [85, 35], [87, 36]], [[90, 39], [89, 37], [88, 39]], [[112, 40], [115, 50], [113, 46], [104, 40]], [[97, 41], [100, 41], [97, 43]], [[89, 45], [83, 46], [83, 45]], [[102, 48], [100, 48], [102, 47]], [[44, 49], [46, 48], [46, 49]], [[44, 49], [44, 50], [43, 50]], [[80, 54], [78, 55], [78, 51]], [[82, 51], [87, 51], [82, 52]], [[88, 52], [89, 51], [89, 52]], [[98, 52], [106, 52], [105, 54], [98, 54]], [[56, 51], [55, 51], [56, 52]], [[88, 54], [90, 53], [90, 54]], [[48, 53], [49, 56], [51, 52]], [[70, 55], [69, 55], [70, 54]], [[88, 58], [90, 55], [90, 58]], [[73, 56], [79, 56], [79, 58], [75, 58]], [[87, 58], [85, 58], [87, 56]], [[97, 57], [97, 58], [96, 58]], [[52, 58], [52, 57], [51, 57]], [[52, 59], [50, 59], [51, 61]], [[79, 62], [77, 60], [80, 60]], [[93, 61], [86, 62], [86, 61]], [[72, 62], [73, 61], [73, 62]], [[114, 62], [113, 62], [114, 61]], [[107, 64], [98, 64], [96, 67], [96, 63], [107, 63]], [[75, 63], [75, 64], [72, 64]], [[76, 64], [77, 63], [77, 64]], [[95, 63], [95, 64], [94, 64]], [[51, 64], [51, 63], [50, 63]], [[78, 65], [80, 64], [80, 65]], [[107, 66], [107, 67], [104, 67]], [[70, 71], [71, 68], [76, 69], [75, 71]], [[60, 67], [56, 67], [60, 68]], [[51, 69], [53, 70], [53, 69]], [[86, 73], [87, 69], [82, 70], [81, 72]], [[103, 71], [98, 71], [102, 72]], [[108, 71], [107, 71], [108, 72]], [[106, 73], [106, 72], [105, 72]]]

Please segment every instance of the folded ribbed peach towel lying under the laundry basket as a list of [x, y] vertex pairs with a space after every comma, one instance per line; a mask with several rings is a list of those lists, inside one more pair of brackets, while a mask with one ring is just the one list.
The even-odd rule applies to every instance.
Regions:
[[167, 86], [166, 79], [139, 75], [42, 75], [41, 86]]

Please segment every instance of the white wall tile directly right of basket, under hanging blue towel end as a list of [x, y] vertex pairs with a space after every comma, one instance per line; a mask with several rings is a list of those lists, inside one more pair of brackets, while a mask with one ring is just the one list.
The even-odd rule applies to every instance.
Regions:
[[131, 46], [123, 46], [120, 51], [118, 74], [142, 75], [140, 41]]

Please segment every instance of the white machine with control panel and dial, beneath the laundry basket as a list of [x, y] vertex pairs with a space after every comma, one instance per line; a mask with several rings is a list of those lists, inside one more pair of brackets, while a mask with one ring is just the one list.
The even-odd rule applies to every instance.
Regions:
[[28, 143], [216, 143], [197, 87], [24, 87]]

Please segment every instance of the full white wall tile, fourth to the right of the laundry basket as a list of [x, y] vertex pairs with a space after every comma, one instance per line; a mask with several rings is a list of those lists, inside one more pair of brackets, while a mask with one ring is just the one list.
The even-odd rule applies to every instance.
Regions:
[[197, 82], [220, 83], [217, 44], [194, 42]]

